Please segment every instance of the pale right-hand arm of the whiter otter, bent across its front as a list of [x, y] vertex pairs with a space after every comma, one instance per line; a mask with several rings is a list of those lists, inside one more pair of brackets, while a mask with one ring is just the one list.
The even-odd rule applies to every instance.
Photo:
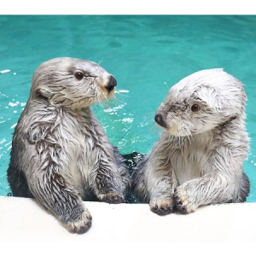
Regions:
[[[241, 186], [242, 163], [243, 158], [234, 158], [229, 148], [218, 148], [201, 170], [205, 175], [177, 187], [177, 208], [194, 212], [201, 205], [236, 201]], [[211, 172], [207, 173], [207, 170]]]

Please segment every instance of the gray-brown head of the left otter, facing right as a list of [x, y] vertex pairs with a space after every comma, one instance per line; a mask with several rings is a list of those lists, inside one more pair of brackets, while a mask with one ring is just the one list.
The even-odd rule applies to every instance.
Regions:
[[43, 97], [55, 106], [86, 108], [111, 98], [116, 84], [95, 62], [55, 58], [42, 63], [34, 73], [31, 97]]

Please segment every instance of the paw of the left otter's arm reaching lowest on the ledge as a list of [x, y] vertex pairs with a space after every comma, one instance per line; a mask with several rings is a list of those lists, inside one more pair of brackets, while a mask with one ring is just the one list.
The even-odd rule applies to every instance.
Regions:
[[90, 229], [91, 219], [90, 212], [86, 209], [79, 220], [63, 223], [63, 225], [71, 233], [84, 234]]

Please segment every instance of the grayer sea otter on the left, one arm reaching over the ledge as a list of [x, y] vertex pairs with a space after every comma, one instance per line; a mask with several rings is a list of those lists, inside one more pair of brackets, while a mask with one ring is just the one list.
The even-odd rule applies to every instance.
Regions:
[[92, 61], [55, 58], [32, 78], [15, 127], [8, 180], [14, 196], [35, 197], [67, 230], [84, 233], [83, 201], [120, 203], [130, 175], [90, 105], [113, 96], [116, 80]]

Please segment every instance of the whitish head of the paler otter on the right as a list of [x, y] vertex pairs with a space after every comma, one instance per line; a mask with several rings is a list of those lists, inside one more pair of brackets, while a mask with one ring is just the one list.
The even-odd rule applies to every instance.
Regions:
[[246, 99], [238, 79], [220, 68], [206, 69], [172, 86], [154, 120], [172, 136], [193, 136], [232, 119], [242, 121]]

